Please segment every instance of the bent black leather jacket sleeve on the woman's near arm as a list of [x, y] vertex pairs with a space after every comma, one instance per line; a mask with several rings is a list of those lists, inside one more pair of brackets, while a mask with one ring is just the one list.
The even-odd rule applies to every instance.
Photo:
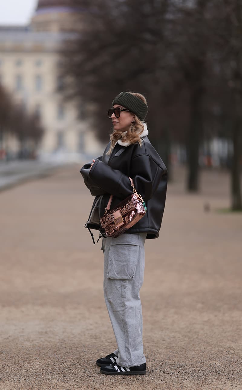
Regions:
[[[131, 161], [131, 177], [144, 200], [152, 197], [162, 175], [163, 169], [146, 154], [135, 156]], [[118, 198], [124, 199], [132, 193], [129, 177], [100, 160], [95, 161], [89, 176], [103, 191]]]

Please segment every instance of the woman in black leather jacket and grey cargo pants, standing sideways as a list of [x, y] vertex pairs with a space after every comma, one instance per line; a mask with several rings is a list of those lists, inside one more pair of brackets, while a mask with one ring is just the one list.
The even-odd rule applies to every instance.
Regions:
[[159, 236], [167, 187], [166, 167], [147, 137], [147, 124], [143, 122], [147, 112], [147, 101], [141, 94], [121, 92], [115, 97], [113, 108], [108, 110], [113, 122], [110, 142], [101, 157], [80, 170], [95, 196], [85, 225], [89, 231], [101, 231], [100, 216], [110, 194], [111, 208], [131, 195], [129, 177], [147, 206], [145, 216], [124, 234], [102, 238], [104, 298], [118, 348], [96, 363], [103, 374], [109, 375], [146, 373], [139, 293], [145, 267], [144, 244], [146, 238]]

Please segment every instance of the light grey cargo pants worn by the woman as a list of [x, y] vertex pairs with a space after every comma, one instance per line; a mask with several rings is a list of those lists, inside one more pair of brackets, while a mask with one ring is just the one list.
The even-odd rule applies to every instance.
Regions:
[[147, 233], [103, 238], [104, 298], [118, 349], [117, 364], [132, 367], [146, 362], [140, 288], [145, 269]]

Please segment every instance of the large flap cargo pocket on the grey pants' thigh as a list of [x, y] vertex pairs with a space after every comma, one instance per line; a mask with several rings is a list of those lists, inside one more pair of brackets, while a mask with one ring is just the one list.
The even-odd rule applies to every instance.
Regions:
[[139, 239], [138, 234], [123, 234], [113, 240], [108, 255], [108, 278], [131, 280], [134, 277], [139, 255]]

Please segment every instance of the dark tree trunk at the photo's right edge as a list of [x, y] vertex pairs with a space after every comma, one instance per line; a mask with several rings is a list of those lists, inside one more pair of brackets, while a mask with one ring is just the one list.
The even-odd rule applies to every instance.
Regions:
[[242, 124], [240, 119], [235, 119], [233, 124], [233, 159], [231, 167], [231, 197], [232, 210], [242, 210], [241, 186], [240, 186], [240, 133], [242, 131]]

